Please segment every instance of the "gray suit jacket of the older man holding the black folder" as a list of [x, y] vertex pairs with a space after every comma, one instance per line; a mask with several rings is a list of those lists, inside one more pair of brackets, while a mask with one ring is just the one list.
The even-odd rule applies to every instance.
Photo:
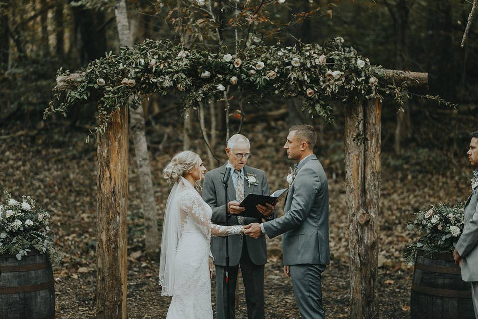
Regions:
[[[225, 206], [227, 204], [224, 198], [224, 185], [222, 183], [226, 164], [213, 169], [206, 173], [203, 183], [203, 199], [213, 210], [211, 221], [214, 224], [226, 225]], [[247, 180], [244, 182], [244, 196], [249, 194], [270, 195], [269, 184], [265, 177], [265, 172], [250, 166], [244, 167], [244, 175], [253, 173], [257, 177], [258, 185], [251, 185], [249, 188]], [[236, 191], [234, 189], [232, 176], [228, 182], [228, 201], [236, 200]], [[262, 219], [246, 217], [245, 224], [261, 223]], [[239, 225], [238, 218], [232, 215], [228, 221], [228, 225]], [[236, 266], [239, 264], [242, 255], [243, 240], [247, 241], [247, 250], [249, 252], [252, 263], [256, 265], [264, 265], [267, 262], [267, 247], [265, 243], [265, 236], [258, 239], [242, 234], [229, 236], [229, 265]], [[211, 252], [214, 256], [214, 264], [226, 266], [226, 237], [212, 237], [211, 238]]]

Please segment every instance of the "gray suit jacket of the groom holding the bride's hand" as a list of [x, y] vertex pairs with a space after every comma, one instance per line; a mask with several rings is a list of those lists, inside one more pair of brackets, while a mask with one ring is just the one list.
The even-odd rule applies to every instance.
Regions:
[[269, 237], [284, 234], [284, 265], [329, 264], [329, 187], [315, 155], [299, 165], [284, 211], [264, 223]]

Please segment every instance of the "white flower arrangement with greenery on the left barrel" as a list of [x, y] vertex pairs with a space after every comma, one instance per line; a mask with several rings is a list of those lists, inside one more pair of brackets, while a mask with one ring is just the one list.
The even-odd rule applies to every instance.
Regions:
[[14, 255], [18, 260], [32, 250], [46, 253], [50, 262], [57, 264], [60, 253], [53, 247], [49, 236], [50, 215], [35, 206], [30, 196], [21, 202], [4, 193], [5, 202], [0, 205], [0, 255]]

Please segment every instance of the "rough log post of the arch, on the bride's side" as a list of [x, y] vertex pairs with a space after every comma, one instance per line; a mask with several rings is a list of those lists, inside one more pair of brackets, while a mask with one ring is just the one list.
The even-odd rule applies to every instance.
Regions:
[[126, 319], [128, 108], [97, 135], [96, 318]]

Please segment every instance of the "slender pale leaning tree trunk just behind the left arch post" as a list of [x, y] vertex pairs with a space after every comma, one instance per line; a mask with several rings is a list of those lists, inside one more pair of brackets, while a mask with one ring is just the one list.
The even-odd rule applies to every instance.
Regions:
[[[132, 34], [129, 31], [129, 20], [125, 0], [117, 0], [115, 6], [116, 24], [118, 27], [119, 43], [121, 46], [132, 46]], [[131, 99], [130, 99], [131, 101]], [[157, 207], [154, 198], [151, 164], [149, 162], [148, 146], [146, 142], [145, 122], [142, 105], [136, 109], [129, 104], [131, 115], [131, 135], [134, 141], [134, 153], [139, 171], [139, 183], [144, 213], [144, 236], [146, 253], [154, 256], [159, 251], [159, 232], [157, 225]]]

